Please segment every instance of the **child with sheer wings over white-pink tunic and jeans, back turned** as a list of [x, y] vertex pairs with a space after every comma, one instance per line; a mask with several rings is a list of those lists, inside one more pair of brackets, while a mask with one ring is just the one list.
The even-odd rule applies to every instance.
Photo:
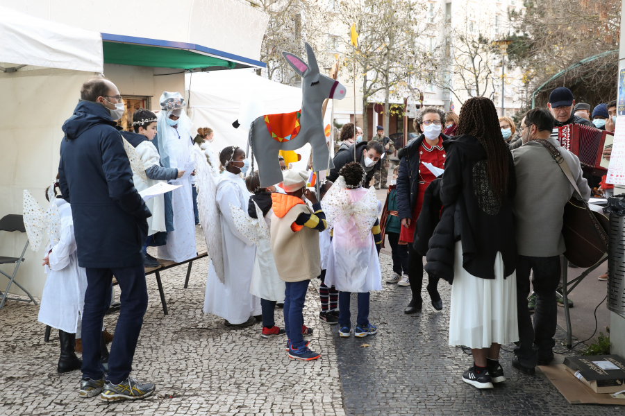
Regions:
[[376, 191], [362, 187], [365, 170], [358, 162], [343, 166], [339, 175], [322, 202], [332, 232], [325, 284], [339, 291], [339, 335], [349, 337], [353, 331], [349, 312], [352, 292], [358, 293], [354, 335], [374, 335], [377, 328], [369, 322], [369, 292], [382, 290]]

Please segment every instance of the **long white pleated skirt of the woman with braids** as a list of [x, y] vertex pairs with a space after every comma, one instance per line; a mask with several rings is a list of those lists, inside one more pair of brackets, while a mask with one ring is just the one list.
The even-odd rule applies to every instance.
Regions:
[[495, 278], [481, 279], [462, 268], [460, 241], [454, 252], [449, 345], [478, 349], [519, 340], [517, 272], [503, 278], [503, 259], [498, 252]]

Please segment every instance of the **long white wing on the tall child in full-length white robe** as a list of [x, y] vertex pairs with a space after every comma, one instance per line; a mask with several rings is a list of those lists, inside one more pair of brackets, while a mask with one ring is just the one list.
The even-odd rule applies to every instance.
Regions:
[[222, 251], [222, 227], [219, 220], [219, 208], [217, 207], [217, 177], [206, 162], [206, 155], [201, 148], [193, 146], [195, 160], [195, 187], [197, 188], [197, 209], [202, 234], [206, 241], [208, 257], [213, 261], [213, 267], [219, 281], [224, 283], [224, 252]]

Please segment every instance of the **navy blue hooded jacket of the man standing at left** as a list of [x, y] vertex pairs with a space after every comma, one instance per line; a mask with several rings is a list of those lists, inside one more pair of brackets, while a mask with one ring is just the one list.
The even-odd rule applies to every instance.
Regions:
[[72, 205], [78, 265], [125, 268], [143, 264], [152, 214], [133, 184], [122, 135], [108, 110], [80, 101], [63, 124], [59, 187]]

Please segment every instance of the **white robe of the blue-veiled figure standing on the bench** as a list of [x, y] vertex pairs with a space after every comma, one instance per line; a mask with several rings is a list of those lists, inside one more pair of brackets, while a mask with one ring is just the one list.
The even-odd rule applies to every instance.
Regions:
[[[167, 125], [166, 128], [176, 130]], [[193, 144], [188, 131], [177, 131], [178, 141], [168, 146], [169, 167], [184, 169], [191, 162]], [[176, 135], [176, 132], [173, 132]], [[182, 185], [172, 191], [172, 209], [174, 211], [174, 231], [167, 233], [167, 244], [158, 248], [158, 258], [179, 263], [197, 256], [195, 247], [195, 215], [193, 213], [193, 194], [191, 177], [169, 181], [173, 185]]]

